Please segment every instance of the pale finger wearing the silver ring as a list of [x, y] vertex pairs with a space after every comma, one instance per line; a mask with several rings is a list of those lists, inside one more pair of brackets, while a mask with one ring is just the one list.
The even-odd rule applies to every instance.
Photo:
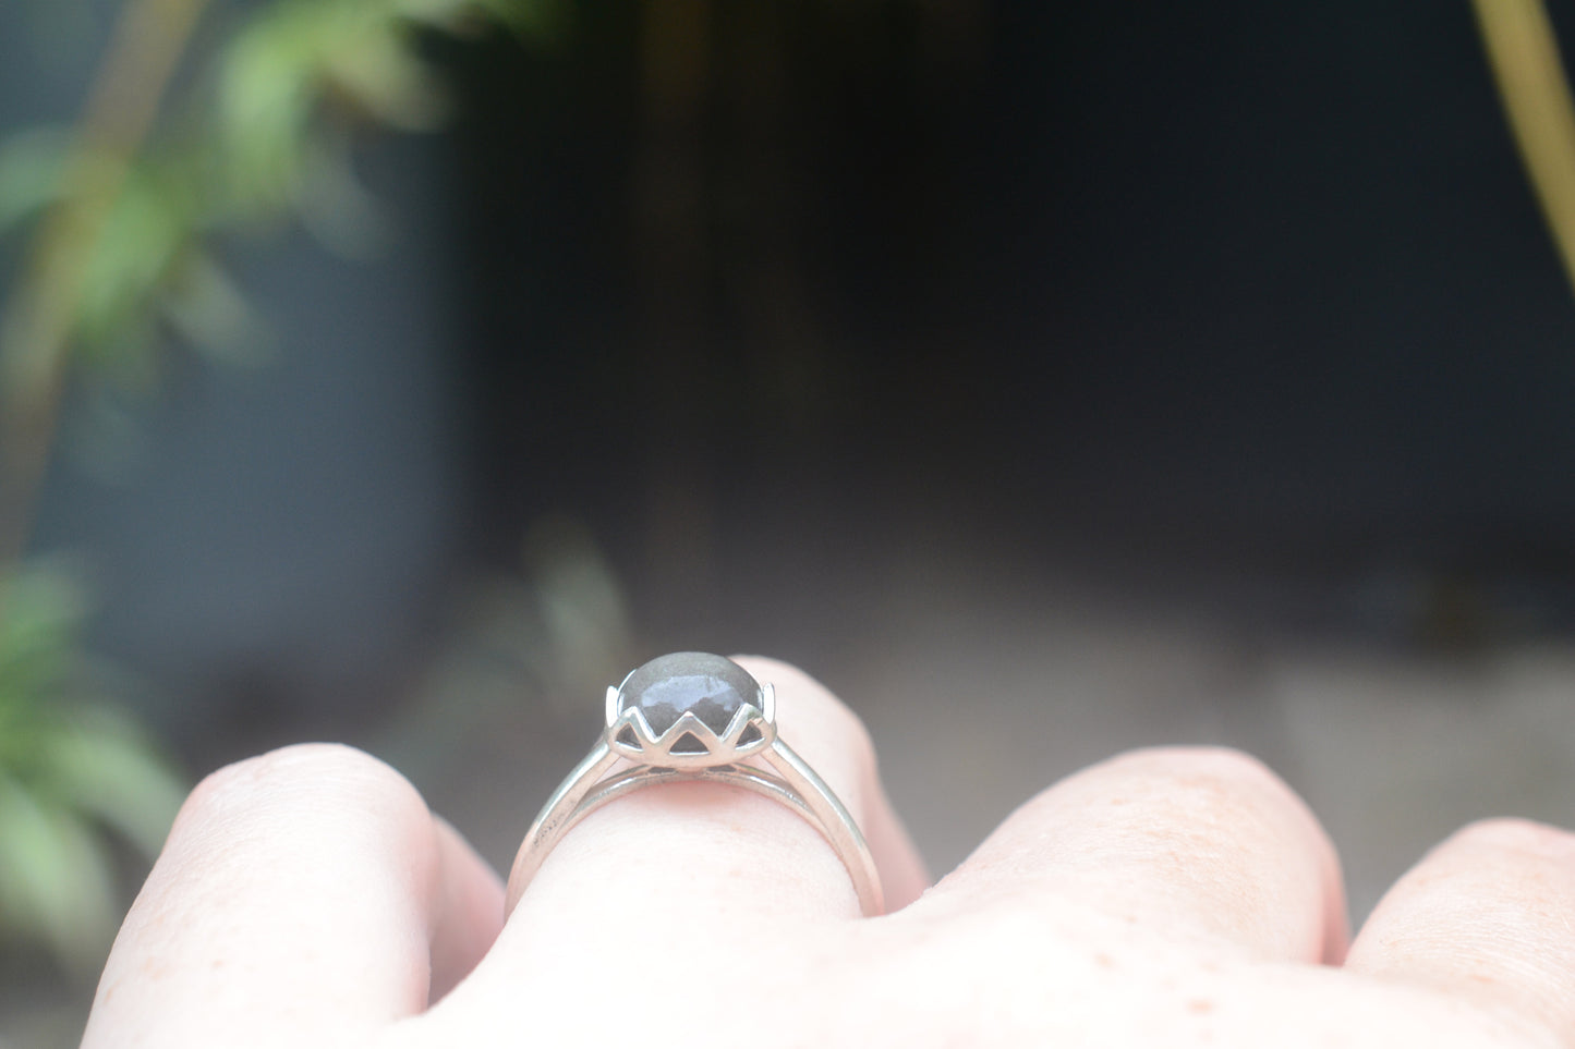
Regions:
[[[775, 687], [780, 739], [862, 827], [888, 906], [912, 899], [923, 868], [880, 791], [863, 725], [802, 671], [737, 662]], [[707, 923], [857, 917], [858, 899], [843, 860], [794, 808], [726, 784], [674, 783], [622, 797], [570, 830], [523, 890], [504, 936], [529, 929], [550, 954], [594, 937], [597, 925], [679, 912], [698, 937]]]

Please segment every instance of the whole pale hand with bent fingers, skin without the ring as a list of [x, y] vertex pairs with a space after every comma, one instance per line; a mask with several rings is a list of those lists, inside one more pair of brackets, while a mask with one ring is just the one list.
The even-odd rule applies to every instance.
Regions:
[[498, 874], [397, 772], [291, 747], [192, 792], [83, 1046], [1575, 1046], [1567, 832], [1473, 824], [1351, 939], [1334, 847], [1274, 773], [1145, 750], [929, 885], [857, 718], [739, 662], [865, 827], [890, 914], [858, 915], [789, 808], [676, 784], [587, 817], [506, 920]]

